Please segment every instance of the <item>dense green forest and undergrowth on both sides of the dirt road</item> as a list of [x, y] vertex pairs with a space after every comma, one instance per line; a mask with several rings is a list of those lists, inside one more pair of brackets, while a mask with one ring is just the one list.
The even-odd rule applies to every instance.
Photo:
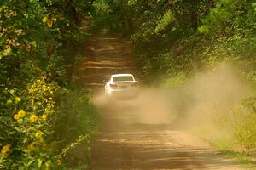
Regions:
[[[0, 169], [65, 168], [67, 150], [82, 142], [90, 147], [97, 111], [88, 89], [73, 82], [73, 67], [92, 32], [128, 37], [146, 83], [156, 76], [155, 82], [167, 76], [169, 86], [187, 82], [220, 62], [239, 65], [241, 76], [256, 83], [253, 0], [3, 0], [0, 5]], [[256, 148], [255, 97], [236, 109], [247, 111], [235, 135], [246, 153]]]

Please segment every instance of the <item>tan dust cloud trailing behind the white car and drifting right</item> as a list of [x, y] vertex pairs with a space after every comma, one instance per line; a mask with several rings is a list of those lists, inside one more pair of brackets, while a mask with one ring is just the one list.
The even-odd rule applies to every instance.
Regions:
[[132, 100], [109, 101], [98, 95], [96, 105], [120, 116], [130, 115], [131, 123], [204, 128], [252, 93], [235, 66], [219, 65], [196, 74], [182, 87], [142, 88]]

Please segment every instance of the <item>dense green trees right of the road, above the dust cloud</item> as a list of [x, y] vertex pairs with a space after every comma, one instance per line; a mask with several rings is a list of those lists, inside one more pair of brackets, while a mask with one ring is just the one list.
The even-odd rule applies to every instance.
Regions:
[[[96, 1], [97, 23], [131, 37], [143, 71], [192, 74], [255, 54], [253, 1]], [[253, 68], [248, 70], [253, 78]]]

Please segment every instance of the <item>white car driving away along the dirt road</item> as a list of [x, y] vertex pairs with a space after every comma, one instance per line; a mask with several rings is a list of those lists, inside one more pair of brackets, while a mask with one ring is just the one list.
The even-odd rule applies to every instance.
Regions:
[[105, 94], [108, 97], [137, 95], [137, 81], [132, 74], [114, 74], [105, 85]]

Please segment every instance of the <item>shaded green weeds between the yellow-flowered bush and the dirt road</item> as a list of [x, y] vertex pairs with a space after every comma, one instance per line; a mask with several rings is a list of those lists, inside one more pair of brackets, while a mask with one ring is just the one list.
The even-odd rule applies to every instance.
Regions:
[[[62, 101], [55, 111], [53, 134], [57, 141], [56, 150], [60, 150], [57, 157], [74, 168], [79, 166], [83, 157], [86, 158], [84, 163], [89, 163], [90, 142], [98, 131], [100, 117], [85, 89], [69, 91], [59, 98]], [[75, 161], [68, 160], [74, 157]]]

